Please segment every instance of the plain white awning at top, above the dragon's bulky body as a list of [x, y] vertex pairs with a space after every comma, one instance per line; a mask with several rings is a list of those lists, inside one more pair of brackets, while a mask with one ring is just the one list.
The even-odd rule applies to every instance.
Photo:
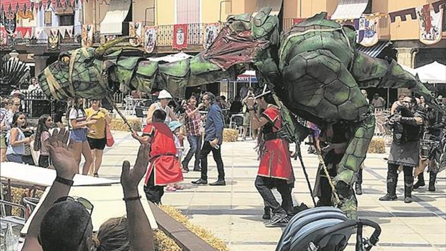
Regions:
[[368, 0], [341, 0], [334, 10], [331, 19], [356, 19], [360, 18], [367, 8]]

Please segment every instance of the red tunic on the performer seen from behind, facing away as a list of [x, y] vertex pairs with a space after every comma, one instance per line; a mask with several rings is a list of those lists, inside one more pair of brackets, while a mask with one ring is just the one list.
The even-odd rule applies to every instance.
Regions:
[[153, 123], [146, 125], [143, 133], [152, 137], [149, 152], [150, 164], [144, 184], [147, 184], [153, 170], [155, 186], [181, 182], [183, 174], [180, 163], [175, 157], [175, 140], [169, 127], [164, 123]]

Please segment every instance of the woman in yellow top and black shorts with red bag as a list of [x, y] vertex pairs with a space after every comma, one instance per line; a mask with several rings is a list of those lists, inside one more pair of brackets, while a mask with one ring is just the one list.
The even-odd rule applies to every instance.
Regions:
[[105, 122], [110, 123], [112, 119], [108, 115], [107, 110], [101, 107], [101, 100], [90, 100], [90, 108], [85, 110], [87, 117], [96, 120], [96, 123], [88, 126], [87, 140], [90, 145], [93, 163], [90, 167], [90, 173], [94, 170], [93, 175], [98, 177], [99, 167], [102, 163], [102, 154], [104, 153], [107, 138], [105, 136]]

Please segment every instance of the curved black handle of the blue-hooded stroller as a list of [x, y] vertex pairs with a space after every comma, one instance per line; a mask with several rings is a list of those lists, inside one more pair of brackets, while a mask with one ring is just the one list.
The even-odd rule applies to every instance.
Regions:
[[345, 221], [343, 223], [326, 228], [314, 239], [313, 243], [319, 244], [319, 242], [325, 236], [327, 236], [329, 234], [338, 232], [341, 229], [345, 229], [345, 228], [349, 228], [349, 227], [357, 227], [358, 225], [369, 226], [369, 227], [373, 227], [375, 229], [373, 234], [371, 234], [370, 239], [368, 240], [369, 245], [366, 244], [366, 246], [365, 246], [365, 250], [370, 250], [371, 247], [374, 246], [379, 241], [378, 237], [381, 234], [381, 227], [378, 225], [378, 223], [370, 221], [370, 220], [366, 220], [366, 219], [361, 219], [361, 220], [357, 220], [357, 221], [355, 221], [355, 220]]

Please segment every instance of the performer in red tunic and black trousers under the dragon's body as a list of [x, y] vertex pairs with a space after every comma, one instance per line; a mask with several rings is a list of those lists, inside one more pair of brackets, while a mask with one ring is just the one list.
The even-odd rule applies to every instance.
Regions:
[[[254, 109], [254, 101], [257, 102], [259, 111], [257, 116]], [[260, 164], [258, 166], [255, 187], [265, 201], [265, 214], [269, 214], [269, 208], [273, 212], [267, 226], [287, 224], [294, 213], [291, 199], [291, 187], [294, 183], [294, 174], [291, 167], [291, 159], [288, 142], [281, 137], [282, 128], [280, 111], [274, 102], [270, 91], [264, 91], [255, 98], [248, 98], [247, 105], [251, 120], [251, 128], [261, 128], [258, 136], [258, 153]], [[274, 197], [271, 189], [276, 188], [282, 197], [280, 205]], [[268, 212], [267, 212], [268, 210]], [[264, 216], [265, 219], [265, 216]]]

